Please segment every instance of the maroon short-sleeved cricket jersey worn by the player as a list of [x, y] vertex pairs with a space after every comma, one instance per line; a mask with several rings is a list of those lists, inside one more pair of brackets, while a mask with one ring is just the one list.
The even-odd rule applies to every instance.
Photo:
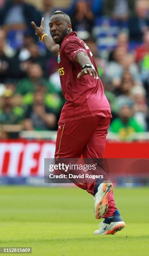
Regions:
[[86, 43], [76, 37], [76, 32], [68, 34], [63, 39], [58, 53], [58, 73], [66, 99], [58, 123], [97, 115], [111, 118], [109, 102], [99, 77], [94, 79], [93, 76], [86, 75], [77, 79], [82, 67], [75, 59], [78, 52], [81, 51], [88, 54], [98, 74], [93, 55]]

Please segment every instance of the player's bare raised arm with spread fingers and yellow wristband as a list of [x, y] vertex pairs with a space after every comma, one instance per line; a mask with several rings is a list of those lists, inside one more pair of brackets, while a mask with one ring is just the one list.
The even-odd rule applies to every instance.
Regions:
[[[41, 20], [40, 27], [37, 27], [33, 21], [31, 22], [31, 24], [32, 24], [33, 28], [35, 28], [35, 35], [39, 36], [41, 38], [43, 36], [43, 34], [45, 33], [44, 18], [42, 18], [42, 20]], [[48, 36], [48, 35], [44, 36], [43, 43], [45, 44], [45, 46], [47, 47], [47, 49], [49, 51], [51, 51], [54, 55], [58, 56], [59, 45], [55, 44], [53, 39], [50, 36]]]

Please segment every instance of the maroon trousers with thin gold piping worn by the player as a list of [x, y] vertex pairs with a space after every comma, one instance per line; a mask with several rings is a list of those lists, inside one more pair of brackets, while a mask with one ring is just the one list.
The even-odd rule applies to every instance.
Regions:
[[[55, 158], [103, 158], [106, 135], [110, 118], [92, 117], [58, 125]], [[94, 195], [95, 183], [77, 184], [81, 189]], [[108, 212], [105, 217], [113, 216], [116, 211], [113, 191], [108, 199]]]

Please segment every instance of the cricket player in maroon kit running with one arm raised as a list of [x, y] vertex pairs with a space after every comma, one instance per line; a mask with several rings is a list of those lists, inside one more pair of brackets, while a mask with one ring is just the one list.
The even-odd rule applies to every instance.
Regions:
[[[70, 17], [62, 11], [49, 21], [51, 37], [34, 22], [35, 34], [58, 57], [58, 73], [66, 103], [58, 122], [55, 158], [99, 159], [104, 156], [106, 135], [111, 120], [109, 102], [104, 95], [93, 54], [72, 31]], [[104, 218], [94, 234], [114, 234], [125, 227], [117, 210], [112, 183], [96, 180], [78, 184], [95, 198], [95, 217]]]

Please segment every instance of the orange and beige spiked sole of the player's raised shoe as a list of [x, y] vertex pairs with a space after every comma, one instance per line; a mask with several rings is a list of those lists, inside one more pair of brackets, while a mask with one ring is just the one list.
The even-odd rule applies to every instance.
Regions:
[[106, 212], [108, 211], [108, 197], [109, 194], [111, 192], [113, 188], [112, 183], [104, 183], [103, 186], [103, 192], [106, 192], [106, 194], [104, 195], [104, 197], [101, 199], [100, 202], [98, 202], [97, 206], [96, 206], [96, 215], [95, 218], [96, 219], [101, 219], [106, 215]]

